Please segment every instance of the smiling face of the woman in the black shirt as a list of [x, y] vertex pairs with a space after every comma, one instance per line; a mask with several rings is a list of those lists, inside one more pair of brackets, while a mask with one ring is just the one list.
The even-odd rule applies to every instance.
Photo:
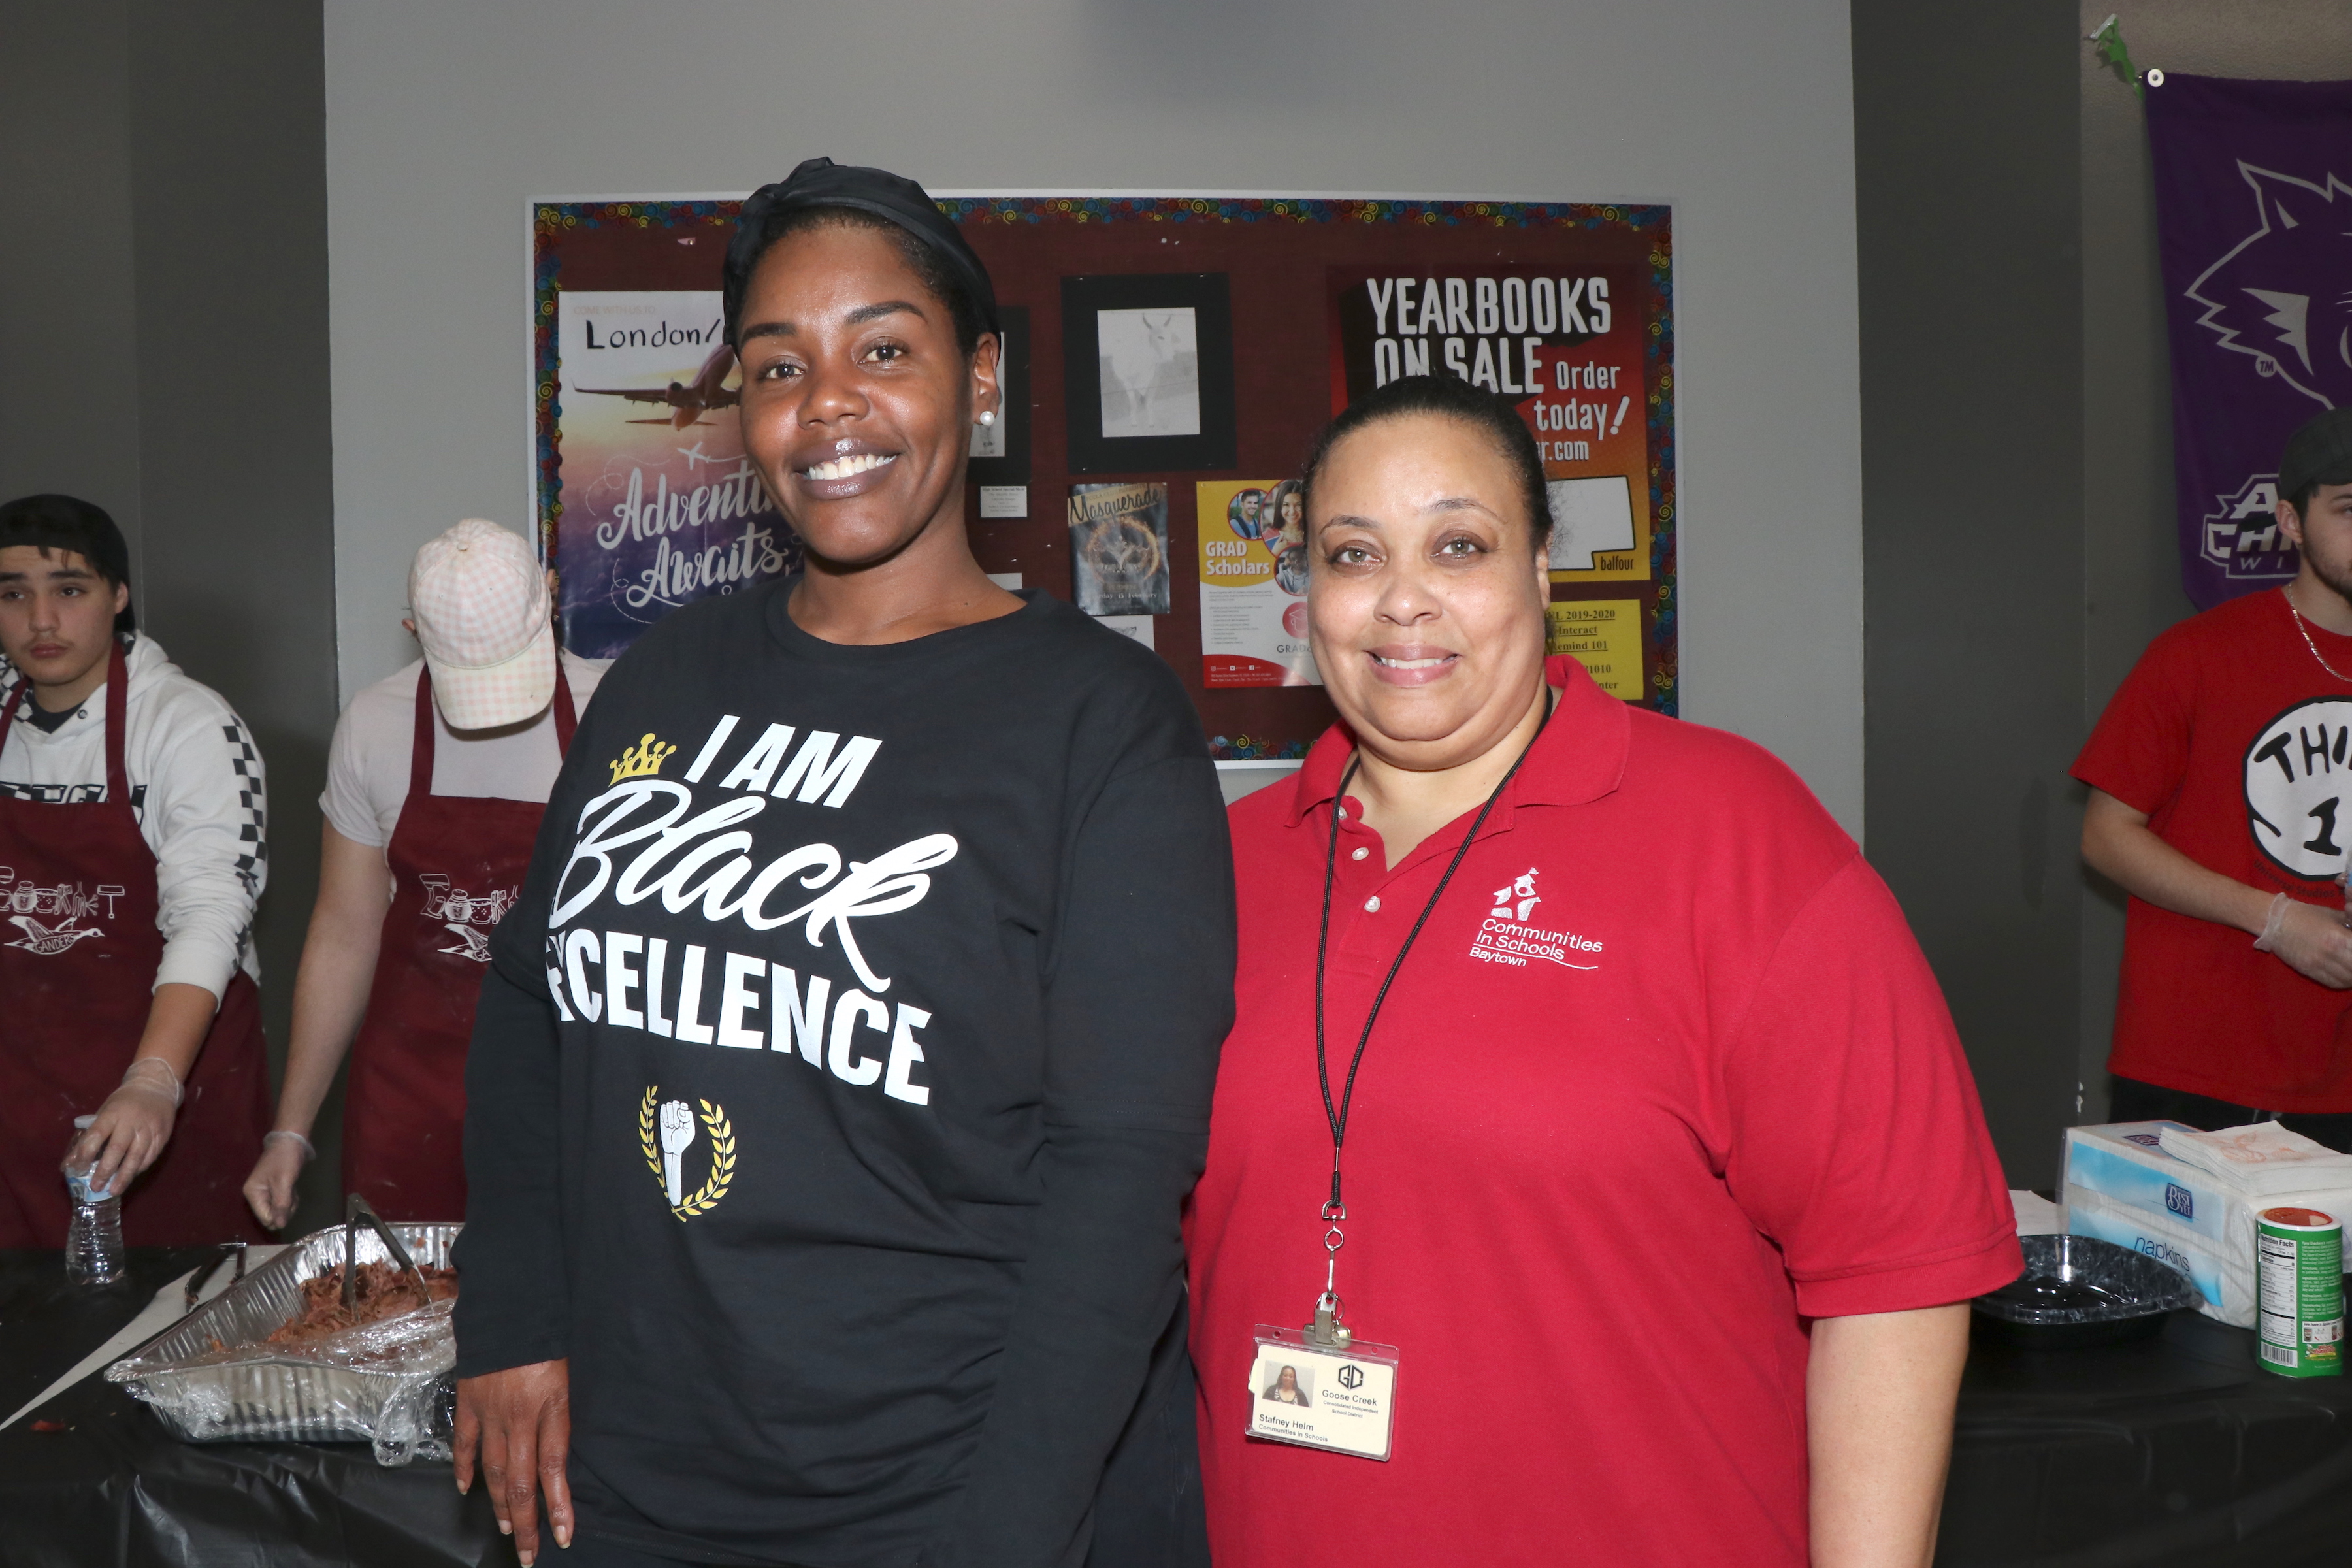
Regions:
[[743, 449], [816, 557], [873, 567], [962, 515], [971, 418], [997, 407], [997, 339], [964, 357], [894, 233], [786, 235], [741, 322]]

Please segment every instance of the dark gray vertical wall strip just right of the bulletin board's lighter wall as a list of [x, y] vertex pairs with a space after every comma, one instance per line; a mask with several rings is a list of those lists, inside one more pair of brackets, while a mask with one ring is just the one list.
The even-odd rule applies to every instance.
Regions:
[[1853, 5], [1870, 858], [2025, 1187], [2074, 1088], [2074, 49], [2034, 0]]

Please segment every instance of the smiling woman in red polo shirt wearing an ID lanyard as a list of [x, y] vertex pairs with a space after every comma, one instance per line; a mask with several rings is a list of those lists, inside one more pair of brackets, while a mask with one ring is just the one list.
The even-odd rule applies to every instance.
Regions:
[[2020, 1258], [1900, 910], [1773, 757], [1545, 661], [1508, 404], [1395, 381], [1305, 487], [1341, 724], [1232, 809], [1188, 1218], [1218, 1566], [1926, 1563]]

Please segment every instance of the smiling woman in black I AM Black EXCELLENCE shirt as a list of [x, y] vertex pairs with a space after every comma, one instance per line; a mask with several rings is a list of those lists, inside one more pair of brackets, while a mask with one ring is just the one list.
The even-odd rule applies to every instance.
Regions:
[[[1178, 1208], [1230, 1023], [1200, 724], [964, 534], [988, 273], [804, 162], [727, 254], [807, 543], [604, 677], [466, 1070], [461, 1486], [522, 1561], [1207, 1563]], [[1091, 1554], [1089, 1554], [1091, 1542]]]

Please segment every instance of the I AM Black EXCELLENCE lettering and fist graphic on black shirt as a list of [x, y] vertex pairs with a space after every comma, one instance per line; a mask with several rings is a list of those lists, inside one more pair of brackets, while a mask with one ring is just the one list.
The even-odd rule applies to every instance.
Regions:
[[[826, 816], [800, 813], [788, 837], [800, 837], [802, 820], [814, 837], [767, 853], [755, 849], [755, 820], [774, 820], [795, 804], [837, 811], [882, 741], [722, 715], [691, 762], [663, 778], [677, 750], [642, 736], [609, 764], [609, 788], [579, 813], [548, 912], [546, 964], [557, 1018], [715, 1051], [797, 1053], [842, 1084], [927, 1107], [931, 1011], [901, 976], [877, 969], [858, 926], [920, 905], [931, 872], [955, 860], [955, 835], [917, 832], [858, 860], [828, 839]], [[699, 919], [706, 940], [684, 940], [670, 922], [659, 922], [670, 936], [654, 936], [652, 922], [633, 919], [654, 907]], [[795, 964], [769, 957], [776, 943], [767, 933], [802, 938], [807, 957]], [[797, 957], [797, 947], [786, 952]], [[649, 1133], [656, 1117], [663, 1145], [656, 1168], [675, 1166], [691, 1138], [689, 1107], [656, 1107], [649, 1088]], [[710, 1107], [701, 1119], [713, 1121]], [[708, 1133], [720, 1138], [717, 1126]], [[647, 1143], [652, 1157], [652, 1135]], [[666, 1175], [675, 1190], [675, 1168]]]

